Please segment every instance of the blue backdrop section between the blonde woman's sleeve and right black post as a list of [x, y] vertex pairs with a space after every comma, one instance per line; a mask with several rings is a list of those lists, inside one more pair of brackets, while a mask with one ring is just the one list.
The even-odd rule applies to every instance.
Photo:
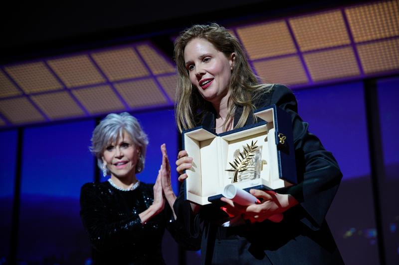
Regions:
[[343, 173], [327, 221], [346, 264], [379, 262], [363, 87], [354, 82], [295, 93], [309, 131], [333, 153]]

